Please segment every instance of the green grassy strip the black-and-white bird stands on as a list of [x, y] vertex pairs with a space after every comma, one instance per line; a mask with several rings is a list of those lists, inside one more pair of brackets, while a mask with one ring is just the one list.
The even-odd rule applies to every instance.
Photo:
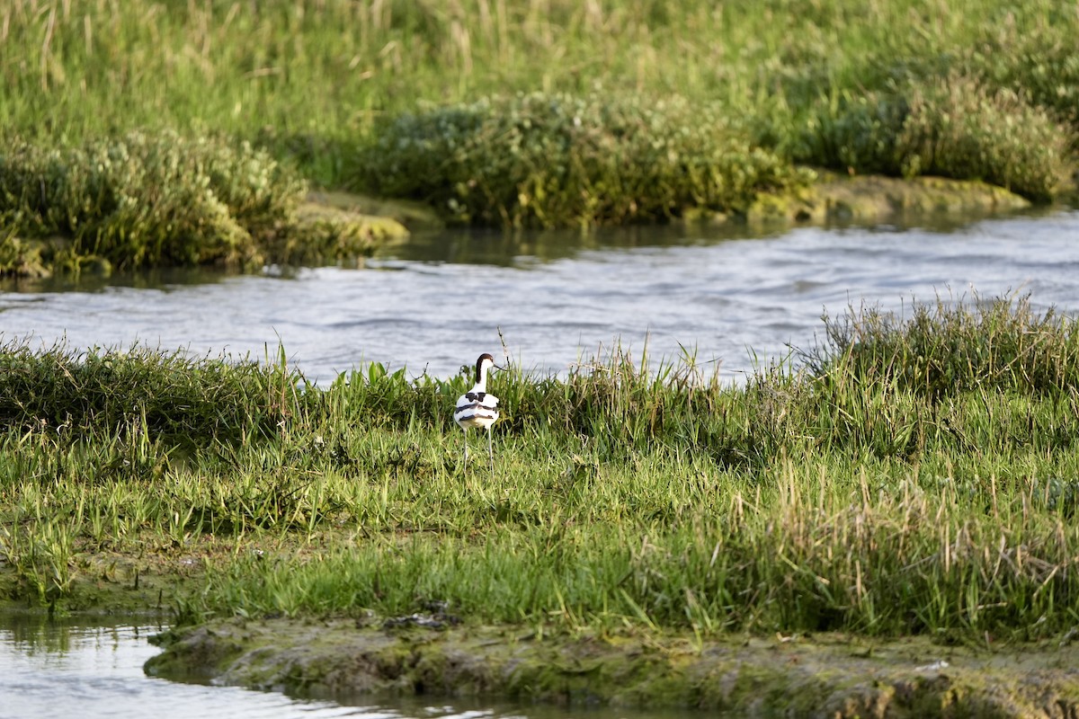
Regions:
[[[851, 310], [825, 335], [745, 387], [617, 351], [564, 379], [495, 374], [493, 476], [475, 435], [461, 464], [465, 373], [311, 388], [9, 347], [3, 585], [79, 606], [114, 571], [101, 556], [197, 557], [167, 598], [181, 622], [448, 603], [544, 631], [1071, 630], [1075, 323], [1001, 299]], [[125, 413], [159, 392], [175, 410]]]

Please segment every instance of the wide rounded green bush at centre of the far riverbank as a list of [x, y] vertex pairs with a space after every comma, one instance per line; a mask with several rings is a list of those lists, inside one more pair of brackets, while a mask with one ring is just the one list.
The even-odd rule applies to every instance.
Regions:
[[456, 222], [560, 226], [742, 212], [811, 177], [748, 126], [680, 98], [531, 94], [396, 117], [359, 161], [367, 191], [423, 199]]

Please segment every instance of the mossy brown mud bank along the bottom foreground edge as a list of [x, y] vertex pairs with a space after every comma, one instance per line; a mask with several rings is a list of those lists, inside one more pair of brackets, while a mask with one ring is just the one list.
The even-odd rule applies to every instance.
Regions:
[[692, 707], [735, 716], [1076, 717], [1079, 648], [925, 638], [538, 637], [413, 616], [218, 621], [174, 630], [153, 676], [315, 697], [436, 695]]

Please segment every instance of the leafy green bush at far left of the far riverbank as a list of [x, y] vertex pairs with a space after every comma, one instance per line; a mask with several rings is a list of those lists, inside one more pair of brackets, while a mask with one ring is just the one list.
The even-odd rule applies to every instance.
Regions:
[[259, 240], [295, 223], [305, 189], [248, 144], [170, 133], [69, 150], [14, 142], [0, 155], [0, 222], [76, 267], [258, 262]]

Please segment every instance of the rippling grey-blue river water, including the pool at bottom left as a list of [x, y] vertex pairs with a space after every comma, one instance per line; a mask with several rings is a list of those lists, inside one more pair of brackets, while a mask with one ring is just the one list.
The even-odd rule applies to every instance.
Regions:
[[[563, 372], [620, 342], [653, 358], [695, 354], [737, 382], [755, 363], [808, 348], [823, 312], [1029, 294], [1079, 310], [1079, 212], [951, 226], [637, 229], [578, 235], [429, 234], [365, 268], [205, 272], [0, 288], [0, 341], [276, 358], [310, 379], [378, 361], [457, 372], [502, 342], [525, 369]], [[53, 716], [528, 717], [543, 707], [365, 705], [146, 677], [154, 626], [0, 616], [0, 719]], [[585, 713], [597, 719], [627, 713]], [[575, 715], [575, 716], [577, 716]], [[650, 714], [650, 717], [658, 715]], [[673, 717], [677, 715], [664, 715]]]

